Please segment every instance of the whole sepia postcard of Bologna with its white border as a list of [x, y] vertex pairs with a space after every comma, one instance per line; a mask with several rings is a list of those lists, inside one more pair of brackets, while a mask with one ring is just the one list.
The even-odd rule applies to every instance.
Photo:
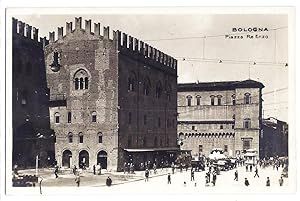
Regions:
[[295, 193], [294, 12], [7, 8], [5, 193]]

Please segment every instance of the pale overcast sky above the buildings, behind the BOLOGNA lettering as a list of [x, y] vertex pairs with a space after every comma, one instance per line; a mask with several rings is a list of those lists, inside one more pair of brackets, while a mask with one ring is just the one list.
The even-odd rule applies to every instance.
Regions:
[[[51, 12], [50, 12], [51, 13]], [[92, 19], [111, 30], [121, 30], [178, 59], [178, 82], [245, 80], [262, 82], [264, 117], [288, 121], [287, 15], [13, 15], [39, 28], [40, 36], [73, 22]], [[232, 28], [267, 28], [255, 34], [267, 39], [228, 39]], [[276, 31], [273, 29], [277, 29]], [[251, 34], [255, 36], [255, 34]], [[203, 36], [206, 36], [203, 39]], [[57, 38], [57, 35], [56, 35]], [[222, 60], [222, 63], [219, 63]], [[229, 61], [230, 60], [230, 61]], [[249, 62], [244, 62], [249, 61]], [[256, 65], [253, 65], [253, 63]], [[268, 62], [268, 63], [265, 63]], [[250, 63], [250, 64], [249, 64]], [[280, 63], [280, 64], [279, 64]], [[275, 92], [277, 90], [277, 92]]]

